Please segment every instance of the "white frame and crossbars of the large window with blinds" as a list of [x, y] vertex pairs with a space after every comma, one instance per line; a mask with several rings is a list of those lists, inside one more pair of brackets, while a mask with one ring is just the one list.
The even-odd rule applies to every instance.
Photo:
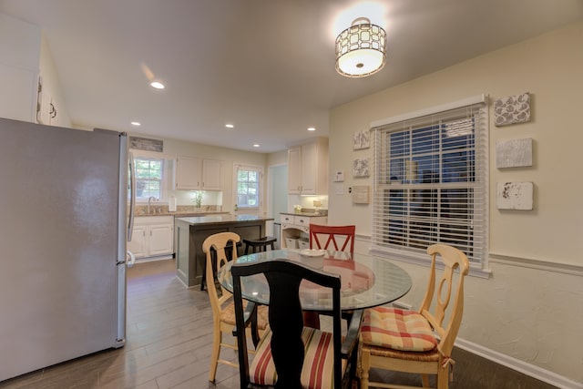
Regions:
[[[457, 110], [465, 109], [465, 108], [473, 108], [476, 110], [476, 118], [479, 120], [476, 121], [475, 127], [475, 159], [476, 163], [474, 169], [472, 170], [475, 173], [476, 179], [475, 182], [471, 182], [471, 180], [467, 180], [464, 183], [451, 183], [451, 182], [435, 182], [434, 179], [430, 180], [427, 183], [414, 183], [413, 181], [408, 181], [403, 183], [401, 182], [391, 182], [391, 170], [382, 166], [383, 162], [387, 162], [389, 159], [387, 158], [386, 152], [387, 145], [380, 144], [381, 134], [384, 134], [385, 137], [389, 137], [387, 134], [397, 133], [398, 131], [403, 131], [404, 133], [407, 131], [413, 131], [412, 128], [423, 128], [423, 127], [431, 127], [435, 124], [435, 118], [444, 118], [447, 117], [452, 112]], [[466, 194], [466, 197], [472, 198], [472, 207], [473, 210], [471, 216], [468, 216], [468, 222], [471, 222], [472, 230], [471, 241], [472, 247], [474, 248], [474, 252], [477, 252], [477, 255], [473, 258], [470, 258], [470, 274], [480, 276], [480, 277], [489, 277], [490, 271], [488, 270], [488, 263], [487, 263], [487, 230], [488, 230], [488, 105], [487, 105], [487, 98], [485, 95], [477, 96], [477, 97], [470, 97], [465, 100], [456, 101], [454, 103], [446, 104], [443, 106], [438, 107], [431, 107], [421, 111], [412, 112], [409, 114], [405, 114], [399, 117], [394, 118], [387, 118], [384, 120], [379, 120], [377, 122], [371, 123], [371, 131], [372, 131], [372, 138], [373, 138], [373, 236], [371, 239], [372, 246], [371, 246], [371, 253], [374, 255], [379, 255], [387, 258], [391, 258], [394, 260], [399, 261], [408, 261], [414, 262], [417, 264], [427, 265], [429, 264], [429, 259], [427, 258], [427, 254], [424, 250], [419, 248], [412, 249], [407, 246], [401, 246], [398, 244], [389, 244], [389, 234], [387, 232], [386, 227], [386, 214], [389, 212], [389, 206], [387, 205], [390, 200], [386, 200], [386, 193], [387, 189], [389, 190], [404, 190], [404, 191], [420, 191], [421, 190], [436, 190], [436, 192], [440, 192], [443, 190], [451, 190], [455, 188], [473, 188], [474, 195], [469, 196]], [[474, 116], [473, 116], [474, 118]], [[404, 123], [414, 124], [414, 126], [404, 127]], [[441, 136], [441, 135], [439, 135]], [[439, 155], [441, 156], [443, 151], [439, 150]], [[408, 158], [413, 160], [414, 152], [413, 147], [411, 147], [411, 151], [407, 154]], [[442, 169], [443, 161], [440, 159], [439, 169]], [[406, 169], [405, 169], [406, 170]], [[417, 180], [418, 181], [418, 180]], [[469, 190], [469, 189], [468, 189]], [[471, 190], [470, 190], [471, 191]], [[433, 192], [432, 192], [433, 193]], [[477, 195], [476, 195], [477, 193]], [[383, 199], [384, 196], [384, 199]], [[383, 199], [383, 200], [381, 200]], [[436, 208], [438, 209], [439, 206], [442, 205], [439, 200], [435, 201]], [[433, 200], [433, 199], [432, 199]], [[404, 209], [411, 210], [413, 202], [409, 200], [402, 200], [403, 204], [407, 207]], [[432, 203], [433, 204], [433, 203]], [[435, 212], [438, 213], [438, 212]], [[479, 215], [478, 215], [479, 213]], [[408, 215], [408, 214], [407, 214]], [[476, 218], [477, 215], [477, 218]], [[441, 216], [441, 215], [439, 215]], [[406, 216], [410, 218], [410, 216]], [[429, 218], [430, 219], [430, 218]], [[383, 220], [383, 223], [380, 223], [379, 220]], [[407, 219], [407, 221], [411, 222], [412, 219]], [[439, 217], [435, 218], [435, 220], [440, 220]], [[430, 220], [434, 222], [435, 220]], [[474, 220], [476, 220], [476, 226], [474, 225]], [[383, 224], [382, 226], [380, 224]], [[429, 224], [429, 223], [428, 223]], [[439, 226], [438, 223], [435, 225]], [[422, 230], [423, 228], [420, 228]], [[440, 230], [440, 227], [437, 227], [437, 230]], [[445, 230], [445, 229], [441, 229]], [[477, 230], [477, 233], [476, 233]], [[411, 227], [407, 230], [408, 233], [411, 232]], [[427, 240], [427, 237], [423, 237], [424, 240]], [[476, 251], [477, 248], [477, 251]]]

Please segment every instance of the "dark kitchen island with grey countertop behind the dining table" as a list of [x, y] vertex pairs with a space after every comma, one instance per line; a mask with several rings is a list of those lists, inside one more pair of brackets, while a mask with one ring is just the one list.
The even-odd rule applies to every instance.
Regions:
[[202, 282], [206, 254], [202, 242], [219, 232], [234, 232], [243, 239], [258, 239], [266, 235], [265, 223], [273, 218], [254, 215], [208, 215], [175, 218], [174, 247], [176, 276], [188, 288]]

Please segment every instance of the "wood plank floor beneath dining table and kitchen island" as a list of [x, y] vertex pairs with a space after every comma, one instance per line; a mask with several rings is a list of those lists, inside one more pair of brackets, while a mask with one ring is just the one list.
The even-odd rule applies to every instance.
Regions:
[[[174, 261], [138, 263], [128, 269], [128, 336], [125, 347], [107, 350], [0, 383], [0, 388], [232, 389], [239, 373], [219, 365], [209, 383], [212, 318], [206, 292], [186, 289], [174, 276]], [[322, 317], [325, 321], [326, 318]], [[234, 353], [227, 351], [222, 354]], [[504, 366], [455, 349], [452, 389], [550, 389]], [[0, 362], [1, 363], [1, 362]], [[386, 382], [420, 384], [402, 374], [372, 371]]]

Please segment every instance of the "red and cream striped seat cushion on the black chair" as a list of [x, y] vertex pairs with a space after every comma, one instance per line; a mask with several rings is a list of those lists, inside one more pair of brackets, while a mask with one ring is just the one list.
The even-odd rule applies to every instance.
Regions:
[[[305, 356], [302, 367], [303, 389], [324, 389], [333, 387], [334, 346], [332, 333], [322, 332], [312, 327], [304, 327], [302, 341]], [[343, 370], [345, 368], [343, 360]], [[271, 330], [261, 338], [250, 366], [252, 384], [274, 385], [277, 373], [271, 357]]]

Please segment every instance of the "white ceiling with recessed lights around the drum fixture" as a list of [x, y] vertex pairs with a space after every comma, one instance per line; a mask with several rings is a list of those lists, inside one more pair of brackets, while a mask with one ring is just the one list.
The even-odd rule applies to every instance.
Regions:
[[[327, 136], [332, 107], [575, 23], [583, 1], [0, 0], [0, 12], [41, 27], [76, 126], [272, 152]], [[386, 30], [387, 64], [342, 77], [334, 39], [360, 16]]]

